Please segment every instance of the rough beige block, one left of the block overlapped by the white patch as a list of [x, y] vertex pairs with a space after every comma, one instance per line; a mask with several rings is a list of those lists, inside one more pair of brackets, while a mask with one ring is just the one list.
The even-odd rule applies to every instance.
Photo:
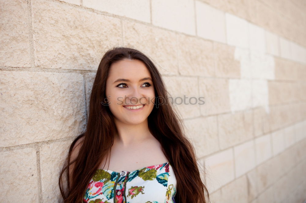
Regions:
[[[179, 73], [188, 76], [215, 76], [213, 43], [197, 37], [178, 34]], [[190, 52], [190, 50], [196, 50]]]

